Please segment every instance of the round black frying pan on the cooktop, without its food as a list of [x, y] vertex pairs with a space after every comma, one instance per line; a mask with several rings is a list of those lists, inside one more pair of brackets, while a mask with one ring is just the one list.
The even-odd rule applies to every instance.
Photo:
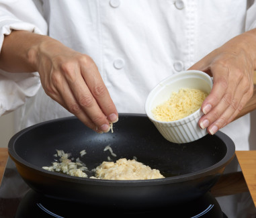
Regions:
[[[103, 149], [110, 145], [117, 157]], [[159, 169], [166, 178], [154, 180], [97, 180], [48, 172], [56, 150], [70, 152], [89, 169], [101, 162], [132, 159]], [[46, 121], [13, 135], [9, 156], [27, 184], [51, 198], [119, 209], [161, 207], [191, 201], [204, 195], [234, 157], [234, 143], [216, 135], [188, 144], [163, 138], [145, 115], [120, 114], [114, 133], [95, 133], [76, 117]], [[90, 176], [90, 175], [89, 175]]]

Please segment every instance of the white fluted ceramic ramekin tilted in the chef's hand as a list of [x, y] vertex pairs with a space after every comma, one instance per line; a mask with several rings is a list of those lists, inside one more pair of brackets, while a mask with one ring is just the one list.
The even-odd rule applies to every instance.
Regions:
[[201, 109], [176, 121], [158, 121], [153, 117], [152, 110], [167, 101], [173, 91], [177, 93], [181, 88], [189, 88], [210, 93], [212, 85], [212, 78], [199, 70], [185, 70], [171, 75], [162, 80], [149, 93], [145, 103], [146, 115], [169, 142], [182, 144], [196, 141], [207, 134], [206, 129], [201, 129], [198, 125], [198, 121], [203, 115]]

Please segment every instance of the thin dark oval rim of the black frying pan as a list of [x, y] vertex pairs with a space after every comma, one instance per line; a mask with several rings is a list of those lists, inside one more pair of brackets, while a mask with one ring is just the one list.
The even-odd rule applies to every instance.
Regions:
[[[138, 114], [138, 113], [119, 113], [120, 115], [132, 115], [132, 116], [143, 116], [146, 117], [144, 114]], [[15, 164], [22, 164], [22, 166], [25, 166], [26, 168], [30, 168], [32, 170], [38, 171], [41, 174], [45, 174], [47, 176], [50, 176], [57, 180], [65, 180], [66, 182], [75, 182], [75, 183], [81, 183], [81, 184], [93, 184], [93, 185], [107, 185], [107, 186], [148, 186], [148, 185], [157, 185], [157, 184], [171, 184], [171, 183], [177, 183], [177, 182], [187, 182], [188, 180], [195, 180], [198, 178], [202, 178], [202, 176], [216, 176], [216, 172], [218, 172], [220, 169], [224, 168], [226, 165], [228, 165], [232, 159], [235, 156], [235, 146], [234, 142], [228, 137], [228, 135], [222, 133], [222, 131], [218, 131], [215, 133], [216, 137], [220, 138], [223, 142], [226, 144], [226, 154], [216, 164], [204, 168], [202, 170], [198, 170], [196, 172], [190, 172], [188, 174], [182, 174], [177, 176], [171, 176], [166, 178], [156, 178], [156, 179], [148, 179], [148, 180], [104, 180], [104, 179], [97, 179], [97, 178], [81, 178], [76, 176], [70, 176], [67, 174], [60, 174], [58, 172], [50, 172], [47, 170], [44, 170], [43, 168], [40, 168], [39, 166], [36, 166], [34, 164], [30, 164], [30, 162], [27, 162], [23, 158], [21, 158], [14, 150], [13, 146], [15, 144], [15, 141], [18, 140], [19, 137], [21, 137], [24, 133], [27, 131], [30, 131], [30, 129], [33, 129], [35, 127], [39, 127], [40, 125], [46, 125], [46, 123], [53, 123], [58, 122], [62, 120], [69, 120], [69, 119], [77, 119], [75, 116], [71, 117], [62, 117], [57, 119], [52, 119], [50, 121], [44, 121], [42, 123], [37, 123], [35, 125], [31, 125], [30, 127], [27, 127], [23, 129], [22, 131], [19, 131], [18, 133], [15, 133], [11, 140], [9, 140], [8, 144], [8, 154], [11, 157], [11, 159], [15, 162]], [[228, 142], [228, 143], [227, 143]]]

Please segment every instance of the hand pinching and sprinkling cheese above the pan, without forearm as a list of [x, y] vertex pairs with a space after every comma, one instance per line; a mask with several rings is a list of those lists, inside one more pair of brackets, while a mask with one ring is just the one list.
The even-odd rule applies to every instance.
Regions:
[[30, 51], [48, 96], [101, 133], [118, 121], [118, 112], [93, 60], [48, 38]]

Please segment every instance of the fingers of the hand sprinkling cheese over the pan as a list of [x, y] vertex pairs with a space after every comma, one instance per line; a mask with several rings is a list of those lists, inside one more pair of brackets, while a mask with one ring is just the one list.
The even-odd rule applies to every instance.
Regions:
[[[79, 64], [73, 65], [62, 65], [66, 90], [60, 93], [67, 108], [91, 129], [108, 132], [110, 122], [118, 120], [118, 113], [96, 65], [88, 56], [80, 58]], [[67, 87], [71, 89], [68, 92]]]

